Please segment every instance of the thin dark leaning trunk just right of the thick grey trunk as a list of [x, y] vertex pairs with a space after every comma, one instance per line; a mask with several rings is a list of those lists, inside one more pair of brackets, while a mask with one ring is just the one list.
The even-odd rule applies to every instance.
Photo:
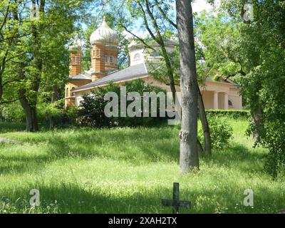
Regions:
[[204, 155], [210, 156], [212, 155], [212, 145], [211, 145], [212, 141], [211, 141], [211, 135], [209, 131], [209, 123], [207, 120], [206, 111], [204, 109], [204, 101], [203, 101], [202, 93], [198, 85], [197, 85], [197, 90], [198, 90], [199, 115], [200, 115], [200, 120], [202, 123], [203, 134], [204, 134]]

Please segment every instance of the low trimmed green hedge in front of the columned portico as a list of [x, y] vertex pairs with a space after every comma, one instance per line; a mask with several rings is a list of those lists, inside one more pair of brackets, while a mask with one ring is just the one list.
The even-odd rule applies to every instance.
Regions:
[[250, 118], [248, 110], [206, 110], [209, 117]]

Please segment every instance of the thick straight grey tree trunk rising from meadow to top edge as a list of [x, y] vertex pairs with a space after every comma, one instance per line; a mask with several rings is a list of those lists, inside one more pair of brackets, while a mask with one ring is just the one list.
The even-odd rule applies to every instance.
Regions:
[[177, 0], [177, 28], [180, 40], [182, 129], [180, 172], [199, 169], [197, 153], [198, 91], [191, 1]]

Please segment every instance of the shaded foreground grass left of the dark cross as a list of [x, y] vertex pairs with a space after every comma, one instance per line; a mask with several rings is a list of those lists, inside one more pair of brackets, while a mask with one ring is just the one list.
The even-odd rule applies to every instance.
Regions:
[[[157, 191], [142, 195], [140, 192], [132, 192], [129, 195], [113, 195], [112, 192], [100, 190], [100, 187], [93, 187], [85, 190], [78, 185], [59, 183], [58, 186], [47, 187], [43, 185], [31, 186], [30, 189], [38, 189], [40, 192], [41, 207], [35, 212], [53, 213], [162, 213], [171, 212], [170, 208], [163, 208], [161, 199], [163, 195], [157, 195]], [[28, 211], [30, 189], [4, 190], [1, 192], [2, 199], [8, 198], [11, 201], [10, 209], [14, 212], [23, 213]], [[161, 190], [159, 191], [161, 192]], [[122, 192], [121, 192], [122, 193]], [[16, 199], [21, 198], [19, 202]], [[24, 200], [23, 200], [24, 199]], [[1, 201], [1, 198], [0, 198]], [[26, 204], [23, 205], [23, 202]], [[6, 208], [9, 212], [9, 207]], [[24, 212], [25, 213], [25, 212]]]

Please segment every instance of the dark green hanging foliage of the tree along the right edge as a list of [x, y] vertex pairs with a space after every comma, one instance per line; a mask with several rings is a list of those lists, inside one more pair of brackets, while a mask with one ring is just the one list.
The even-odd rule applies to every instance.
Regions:
[[[241, 20], [244, 1], [221, 2], [234, 20]], [[252, 1], [254, 20], [242, 23], [233, 45], [245, 71], [242, 95], [254, 117], [249, 132], [257, 137], [257, 145], [269, 149], [266, 170], [273, 177], [284, 172], [285, 164], [284, 2]]]

